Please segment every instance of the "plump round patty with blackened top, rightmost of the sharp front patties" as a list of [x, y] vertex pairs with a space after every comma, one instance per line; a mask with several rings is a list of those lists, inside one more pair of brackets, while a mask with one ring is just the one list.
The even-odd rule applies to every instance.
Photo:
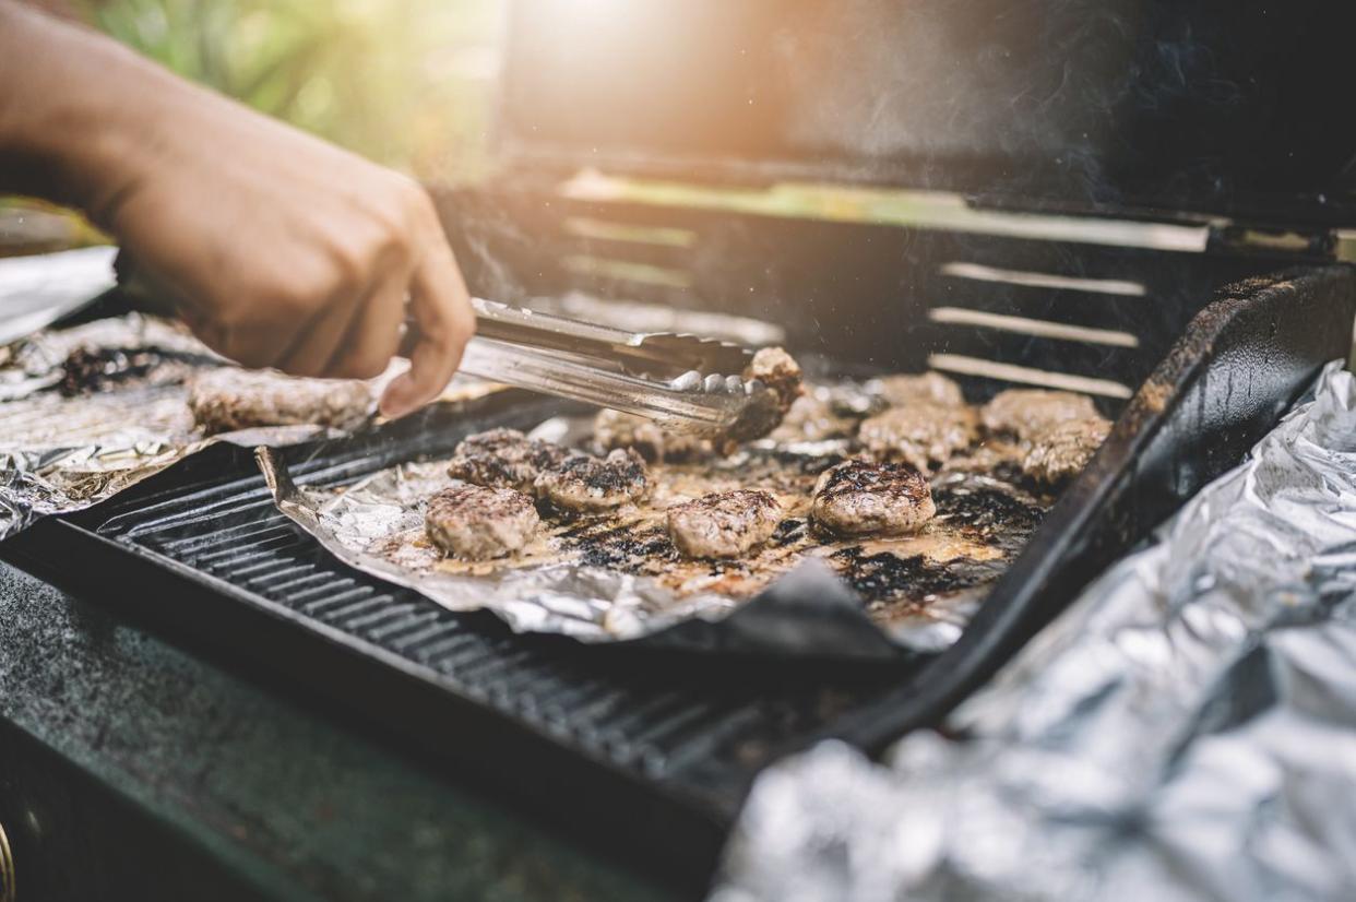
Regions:
[[936, 513], [921, 472], [865, 460], [820, 473], [810, 509], [816, 524], [839, 536], [900, 536], [917, 532]]

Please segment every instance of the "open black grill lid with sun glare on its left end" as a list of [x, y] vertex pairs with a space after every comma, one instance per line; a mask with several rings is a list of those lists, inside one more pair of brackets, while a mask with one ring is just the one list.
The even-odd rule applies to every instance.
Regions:
[[518, 0], [519, 163], [1356, 224], [1356, 4]]

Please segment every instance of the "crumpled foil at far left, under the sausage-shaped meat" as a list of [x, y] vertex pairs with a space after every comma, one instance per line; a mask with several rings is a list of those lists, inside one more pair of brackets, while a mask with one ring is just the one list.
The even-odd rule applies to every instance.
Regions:
[[[145, 377], [64, 397], [53, 387], [77, 347], [167, 358]], [[0, 540], [37, 519], [111, 498], [207, 445], [290, 445], [334, 430], [278, 426], [205, 437], [184, 377], [222, 361], [168, 320], [126, 315], [47, 330], [0, 349]]]

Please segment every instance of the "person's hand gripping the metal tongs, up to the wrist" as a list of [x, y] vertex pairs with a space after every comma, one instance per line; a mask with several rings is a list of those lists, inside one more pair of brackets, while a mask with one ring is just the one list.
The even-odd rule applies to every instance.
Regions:
[[[92, 208], [202, 340], [245, 366], [367, 378], [419, 342], [382, 411], [446, 385], [475, 328], [433, 202], [414, 182], [206, 92], [161, 98], [159, 140]], [[122, 167], [119, 167], [122, 168]]]

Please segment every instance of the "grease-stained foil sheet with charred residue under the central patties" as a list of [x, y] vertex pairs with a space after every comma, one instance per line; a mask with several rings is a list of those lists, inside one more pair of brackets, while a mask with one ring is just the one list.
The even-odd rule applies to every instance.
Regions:
[[[534, 434], [586, 445], [590, 422], [556, 416]], [[946, 647], [1050, 499], [989, 475], [942, 472], [934, 477], [938, 515], [918, 534], [839, 538], [811, 529], [808, 513], [818, 476], [841, 460], [819, 448], [759, 442], [730, 457], [658, 463], [652, 491], [637, 505], [580, 515], [544, 503], [544, 528], [522, 551], [458, 562], [445, 559], [423, 528], [426, 499], [452, 483], [445, 457], [309, 487], [290, 479], [286, 454], [259, 452], [279, 510], [344, 563], [454, 610], [488, 609], [522, 632], [747, 648], [753, 643], [731, 636], [772, 619], [780, 629], [763, 631], [759, 651], [876, 656]], [[667, 507], [734, 488], [777, 499], [782, 519], [773, 537], [739, 559], [679, 555]]]

